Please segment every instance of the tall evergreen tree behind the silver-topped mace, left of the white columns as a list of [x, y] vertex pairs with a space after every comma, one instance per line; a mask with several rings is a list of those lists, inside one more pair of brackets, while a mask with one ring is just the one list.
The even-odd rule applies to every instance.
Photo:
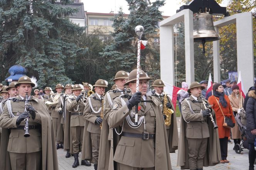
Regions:
[[141, 68], [148, 72], [153, 79], [160, 78], [159, 44], [154, 40], [158, 37], [158, 22], [162, 20], [159, 8], [164, 5], [164, 0], [153, 3], [145, 0], [126, 0], [130, 14], [125, 16], [122, 9], [113, 19], [114, 42], [104, 48], [102, 57], [106, 63], [108, 80], [113, 80], [113, 73], [119, 70], [130, 72], [136, 69], [137, 40], [135, 27], [142, 25], [145, 30], [142, 40], [148, 40], [145, 50], [141, 50]]

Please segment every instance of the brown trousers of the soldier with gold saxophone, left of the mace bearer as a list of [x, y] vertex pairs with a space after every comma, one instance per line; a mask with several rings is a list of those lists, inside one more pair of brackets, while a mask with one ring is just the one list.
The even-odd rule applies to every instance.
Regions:
[[101, 138], [101, 134], [91, 133], [91, 147], [92, 147], [92, 156], [93, 156], [93, 163], [98, 164], [99, 160], [99, 141]]

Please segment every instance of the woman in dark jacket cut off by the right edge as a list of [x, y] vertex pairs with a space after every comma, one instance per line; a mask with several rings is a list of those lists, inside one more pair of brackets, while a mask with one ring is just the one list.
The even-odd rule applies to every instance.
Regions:
[[256, 151], [254, 150], [254, 140], [256, 138], [256, 91], [248, 92], [248, 101], [246, 104], [246, 133], [249, 143], [249, 170], [254, 170], [254, 159]]

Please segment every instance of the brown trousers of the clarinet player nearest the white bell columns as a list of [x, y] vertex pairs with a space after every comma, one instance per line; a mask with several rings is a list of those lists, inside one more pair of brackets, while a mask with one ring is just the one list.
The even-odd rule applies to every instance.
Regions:
[[189, 169], [203, 168], [208, 138], [187, 138], [189, 145]]

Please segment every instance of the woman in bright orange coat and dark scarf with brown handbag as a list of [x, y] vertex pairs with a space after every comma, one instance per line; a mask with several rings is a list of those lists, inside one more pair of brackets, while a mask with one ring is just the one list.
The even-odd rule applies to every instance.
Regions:
[[[232, 122], [235, 123], [232, 107], [230, 105], [229, 98], [224, 93], [224, 88], [220, 83], [216, 83], [212, 87], [213, 95], [208, 98], [209, 103], [212, 105], [212, 109], [215, 111], [216, 122], [219, 126], [219, 143], [221, 146], [221, 163], [229, 163], [227, 160], [227, 141], [230, 135], [230, 129], [223, 127], [224, 116], [231, 118]], [[219, 103], [219, 104], [218, 104]], [[221, 109], [220, 109], [220, 107]], [[222, 110], [222, 112], [221, 112]]]

